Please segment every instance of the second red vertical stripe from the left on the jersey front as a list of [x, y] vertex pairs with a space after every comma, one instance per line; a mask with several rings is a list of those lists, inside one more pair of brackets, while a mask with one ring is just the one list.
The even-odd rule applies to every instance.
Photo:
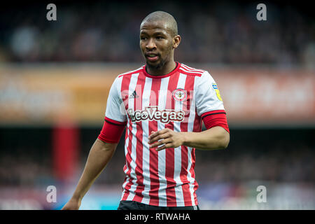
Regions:
[[[137, 80], [137, 86], [136, 86], [136, 92], [139, 97], [134, 98], [134, 111], [136, 110], [142, 110], [142, 96], [144, 94], [144, 83], [146, 82], [145, 76], [138, 76]], [[135, 190], [135, 196], [134, 199], [137, 202], [141, 202], [144, 195], [142, 195], [142, 191], [144, 190], [144, 176], [143, 176], [143, 150], [144, 145], [142, 144], [143, 141], [143, 129], [142, 129], [142, 121], [140, 120], [137, 122], [137, 146], [136, 146], [136, 175], [137, 175], [137, 188]]]

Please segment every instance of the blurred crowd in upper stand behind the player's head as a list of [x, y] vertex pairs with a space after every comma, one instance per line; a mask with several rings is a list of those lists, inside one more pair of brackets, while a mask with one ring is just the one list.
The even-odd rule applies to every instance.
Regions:
[[146, 7], [57, 3], [52, 22], [45, 20], [43, 8], [3, 12], [0, 62], [143, 62], [139, 26], [154, 10], [167, 11], [178, 22], [178, 61], [314, 68], [314, 18], [294, 6], [268, 3], [267, 21], [258, 21], [255, 4], [232, 1], [148, 2]]

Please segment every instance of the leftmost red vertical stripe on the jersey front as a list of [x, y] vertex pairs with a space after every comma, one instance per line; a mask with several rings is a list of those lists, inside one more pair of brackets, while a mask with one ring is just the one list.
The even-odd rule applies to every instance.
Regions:
[[[128, 108], [128, 97], [129, 97], [129, 85], [130, 85], [130, 80], [131, 80], [132, 76], [123, 76], [123, 80], [121, 82], [121, 97], [123, 99], [123, 103], [125, 105], [125, 108], [127, 110]], [[129, 126], [129, 127], [128, 127]], [[130, 120], [129, 125], [127, 125], [128, 130], [129, 130], [129, 134], [127, 132], [127, 128], [126, 128], [126, 139], [129, 139], [129, 143], [127, 146], [127, 154], [126, 154], [126, 165], [124, 167], [124, 172], [125, 170], [128, 168], [127, 171], [127, 176], [130, 176], [130, 172], [131, 172], [131, 167], [130, 167], [130, 162], [132, 161], [131, 158], [131, 150], [132, 150], [132, 122]], [[132, 186], [132, 176], [130, 176], [129, 179], [129, 183], [127, 183], [127, 185], [125, 186], [125, 194], [123, 196], [122, 200], [126, 200], [128, 195], [129, 195], [129, 189]]]

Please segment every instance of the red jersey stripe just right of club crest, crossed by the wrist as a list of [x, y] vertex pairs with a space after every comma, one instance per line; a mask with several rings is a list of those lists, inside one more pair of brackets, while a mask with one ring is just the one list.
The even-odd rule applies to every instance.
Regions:
[[[185, 119], [181, 123], [181, 132], [188, 132], [188, 118], [190, 115], [190, 104], [193, 99], [193, 90], [194, 90], [195, 76], [187, 76], [185, 83], [185, 90], [187, 90], [187, 99], [183, 104], [183, 108], [185, 111]], [[181, 182], [183, 183], [183, 199], [185, 206], [192, 206], [193, 203], [191, 201], [189, 181], [187, 179], [188, 174], [188, 148], [187, 146], [181, 146]]]

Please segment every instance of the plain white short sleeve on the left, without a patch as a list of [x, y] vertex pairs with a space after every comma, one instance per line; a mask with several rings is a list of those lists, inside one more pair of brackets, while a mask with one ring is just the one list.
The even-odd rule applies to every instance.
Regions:
[[116, 120], [118, 122], [125, 122], [127, 120], [125, 106], [123, 104], [123, 99], [121, 99], [120, 88], [121, 88], [122, 78], [116, 78], [111, 85], [111, 90], [109, 90], [109, 97], [107, 98], [106, 104], [106, 118], [111, 120]]

